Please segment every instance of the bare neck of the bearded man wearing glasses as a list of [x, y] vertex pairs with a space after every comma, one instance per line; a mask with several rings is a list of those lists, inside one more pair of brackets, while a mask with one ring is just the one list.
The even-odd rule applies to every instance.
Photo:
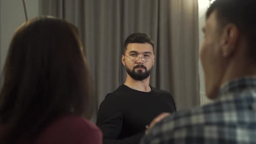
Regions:
[[149, 87], [149, 81], [150, 81], [150, 76], [148, 76], [148, 78], [144, 80], [138, 81], [138, 80], [132, 79], [130, 75], [128, 75], [126, 77], [125, 85], [141, 92], [150, 92], [151, 88]]

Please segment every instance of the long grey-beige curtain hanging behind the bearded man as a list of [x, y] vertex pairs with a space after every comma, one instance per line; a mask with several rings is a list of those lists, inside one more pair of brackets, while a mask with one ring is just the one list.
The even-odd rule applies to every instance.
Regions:
[[[41, 0], [42, 14], [64, 17], [81, 31], [97, 104], [125, 82], [122, 43], [135, 32], [156, 44], [151, 85], [169, 91], [177, 109], [200, 105], [197, 0]], [[64, 9], [62, 9], [64, 7]]]

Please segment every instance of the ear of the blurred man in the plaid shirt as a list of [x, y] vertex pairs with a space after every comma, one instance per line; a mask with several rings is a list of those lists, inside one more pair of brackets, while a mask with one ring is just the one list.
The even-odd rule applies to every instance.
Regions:
[[234, 24], [227, 24], [222, 31], [221, 47], [222, 55], [224, 57], [230, 56], [235, 52], [235, 48], [238, 42], [239, 30]]

